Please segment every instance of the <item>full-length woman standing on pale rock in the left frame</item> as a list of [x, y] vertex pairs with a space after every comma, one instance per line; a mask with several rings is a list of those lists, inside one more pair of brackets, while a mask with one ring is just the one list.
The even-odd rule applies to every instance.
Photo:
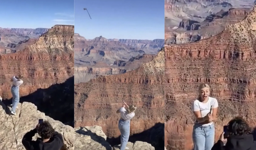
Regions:
[[20, 85], [23, 84], [23, 81], [21, 80], [23, 76], [19, 74], [18, 76], [13, 76], [11, 81], [12, 81], [12, 111], [11, 113], [13, 115], [16, 115], [16, 108], [18, 108], [18, 104], [20, 102]]

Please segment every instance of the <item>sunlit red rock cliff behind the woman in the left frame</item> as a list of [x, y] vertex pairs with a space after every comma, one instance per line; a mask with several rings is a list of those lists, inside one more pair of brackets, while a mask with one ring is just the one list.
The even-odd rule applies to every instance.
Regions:
[[0, 95], [11, 98], [12, 76], [24, 75], [20, 96], [74, 76], [74, 26], [56, 25], [32, 45], [0, 55]]

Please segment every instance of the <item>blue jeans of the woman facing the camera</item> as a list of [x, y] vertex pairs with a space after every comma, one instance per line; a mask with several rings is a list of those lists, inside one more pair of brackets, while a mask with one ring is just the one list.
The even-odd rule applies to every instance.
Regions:
[[202, 126], [195, 123], [193, 128], [194, 150], [211, 150], [214, 145], [214, 124]]

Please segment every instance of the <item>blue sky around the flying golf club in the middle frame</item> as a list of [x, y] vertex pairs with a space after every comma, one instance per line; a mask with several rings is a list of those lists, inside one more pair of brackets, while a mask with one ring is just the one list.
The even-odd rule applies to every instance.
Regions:
[[164, 39], [164, 0], [75, 0], [74, 4], [75, 32], [87, 39]]

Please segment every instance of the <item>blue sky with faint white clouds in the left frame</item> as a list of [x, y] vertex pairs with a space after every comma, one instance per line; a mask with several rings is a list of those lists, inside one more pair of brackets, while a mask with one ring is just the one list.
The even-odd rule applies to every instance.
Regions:
[[74, 25], [74, 0], [1, 0], [1, 28]]

